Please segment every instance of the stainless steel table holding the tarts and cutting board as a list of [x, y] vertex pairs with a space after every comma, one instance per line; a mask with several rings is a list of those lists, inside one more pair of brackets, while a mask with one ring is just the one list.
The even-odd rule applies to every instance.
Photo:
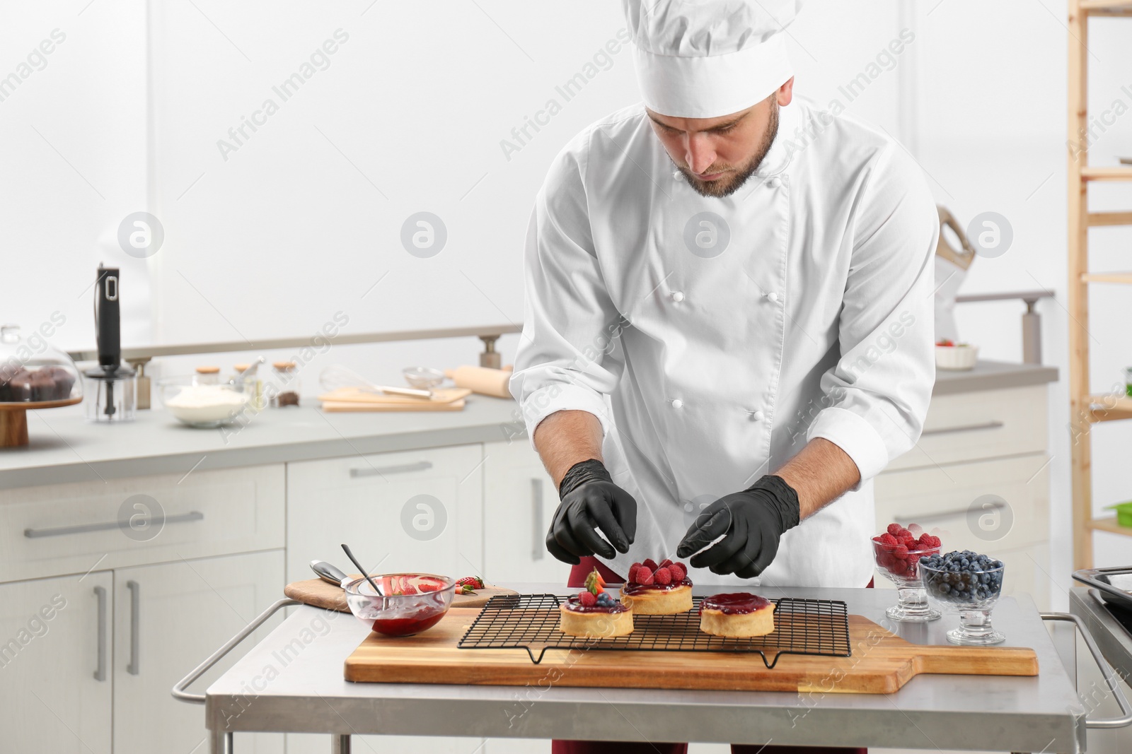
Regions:
[[[511, 586], [564, 593], [560, 584]], [[761, 591], [779, 596], [774, 589]], [[789, 593], [844, 600], [850, 613], [917, 643], [945, 643], [944, 632], [958, 622], [944, 616], [926, 625], [893, 623], [884, 616], [895, 599], [891, 590]], [[994, 621], [1009, 645], [1035, 649], [1038, 676], [921, 675], [889, 695], [798, 694], [349, 683], [343, 661], [369, 630], [351, 615], [301, 606], [203, 696], [185, 687], [242, 635], [182, 679], [174, 696], [204, 701], [214, 754], [229, 751], [232, 731], [324, 733], [333, 752], [348, 752], [354, 734], [1082, 752], [1087, 725], [1098, 721], [1086, 720], [1032, 601], [1004, 598]], [[1123, 696], [1120, 701], [1125, 718], [1099, 725], [1132, 721]]]

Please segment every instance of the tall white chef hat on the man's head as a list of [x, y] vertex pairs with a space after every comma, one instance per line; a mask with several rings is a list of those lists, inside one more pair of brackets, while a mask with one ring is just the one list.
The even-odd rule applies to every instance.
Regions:
[[765, 99], [794, 68], [782, 32], [803, 0], [621, 0], [644, 104], [719, 118]]

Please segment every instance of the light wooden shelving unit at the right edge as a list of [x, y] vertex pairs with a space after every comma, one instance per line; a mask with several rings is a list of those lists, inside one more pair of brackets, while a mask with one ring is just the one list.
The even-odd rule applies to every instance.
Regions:
[[[1132, 225], [1132, 211], [1090, 213], [1089, 184], [1095, 181], [1132, 181], [1132, 165], [1089, 165], [1088, 128], [1089, 19], [1132, 19], [1132, 0], [1069, 0], [1069, 138], [1079, 144], [1069, 150], [1069, 382], [1073, 425], [1073, 564], [1092, 567], [1092, 532], [1132, 535], [1115, 519], [1092, 518], [1092, 439], [1097, 422], [1132, 418], [1132, 398], [1089, 392], [1089, 285], [1130, 285], [1132, 272], [1089, 271], [1089, 228]], [[1118, 21], [1115, 21], [1118, 23]]]

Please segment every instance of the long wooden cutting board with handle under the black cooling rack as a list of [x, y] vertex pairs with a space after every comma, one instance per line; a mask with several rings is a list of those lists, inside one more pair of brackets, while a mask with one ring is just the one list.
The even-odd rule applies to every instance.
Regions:
[[697, 688], [890, 694], [920, 673], [1038, 674], [1032, 649], [912, 644], [859, 615], [849, 616], [852, 657], [783, 655], [766, 668], [757, 653], [457, 649], [478, 609], [453, 608], [415, 636], [370, 633], [346, 658], [346, 681], [494, 686], [554, 684], [619, 688]]

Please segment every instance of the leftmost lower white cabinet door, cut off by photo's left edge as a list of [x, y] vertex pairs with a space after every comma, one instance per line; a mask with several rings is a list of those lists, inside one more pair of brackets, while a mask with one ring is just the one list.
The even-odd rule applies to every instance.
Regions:
[[0, 751], [110, 754], [113, 580], [0, 584]]

